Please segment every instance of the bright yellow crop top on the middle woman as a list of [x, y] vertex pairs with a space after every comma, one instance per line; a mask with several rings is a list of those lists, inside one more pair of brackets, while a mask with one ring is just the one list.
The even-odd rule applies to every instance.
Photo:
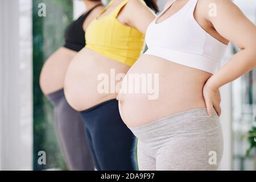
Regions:
[[113, 1], [86, 28], [86, 47], [112, 60], [132, 66], [144, 50], [145, 36], [136, 28], [125, 26], [117, 19], [123, 1], [110, 14], [98, 19]]

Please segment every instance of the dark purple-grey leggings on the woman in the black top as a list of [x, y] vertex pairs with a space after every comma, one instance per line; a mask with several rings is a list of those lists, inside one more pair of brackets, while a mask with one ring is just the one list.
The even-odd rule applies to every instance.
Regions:
[[54, 106], [55, 131], [68, 168], [76, 171], [94, 170], [80, 114], [69, 106], [63, 89], [47, 95], [47, 98]]

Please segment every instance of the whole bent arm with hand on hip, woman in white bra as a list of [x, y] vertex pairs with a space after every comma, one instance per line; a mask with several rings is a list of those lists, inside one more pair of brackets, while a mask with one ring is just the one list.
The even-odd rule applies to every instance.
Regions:
[[[241, 49], [228, 63], [208, 79], [203, 89], [208, 114], [212, 115], [213, 109], [215, 109], [217, 114], [220, 115], [221, 98], [218, 88], [236, 80], [236, 78], [256, 67], [256, 26], [246, 18], [232, 1], [205, 0], [200, 2], [199, 4], [205, 7], [205, 9], [201, 9], [204, 11], [204, 17], [212, 24], [212, 28], [223, 38]], [[217, 16], [209, 16], [207, 7], [210, 3], [218, 7]]]

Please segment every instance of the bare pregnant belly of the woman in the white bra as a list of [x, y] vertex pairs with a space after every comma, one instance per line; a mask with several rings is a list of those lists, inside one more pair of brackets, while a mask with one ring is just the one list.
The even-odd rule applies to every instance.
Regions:
[[203, 86], [210, 76], [199, 69], [143, 55], [122, 84], [119, 111], [123, 121], [129, 127], [138, 127], [181, 111], [205, 107]]

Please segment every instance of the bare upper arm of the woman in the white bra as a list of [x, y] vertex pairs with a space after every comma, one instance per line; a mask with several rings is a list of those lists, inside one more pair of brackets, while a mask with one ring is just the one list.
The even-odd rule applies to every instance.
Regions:
[[[233, 2], [229, 0], [203, 0], [203, 3], [204, 6], [208, 7], [205, 11], [205, 18], [218, 34], [241, 49], [255, 49], [256, 26]], [[214, 12], [211, 14], [210, 11], [216, 11], [216, 14]]]

